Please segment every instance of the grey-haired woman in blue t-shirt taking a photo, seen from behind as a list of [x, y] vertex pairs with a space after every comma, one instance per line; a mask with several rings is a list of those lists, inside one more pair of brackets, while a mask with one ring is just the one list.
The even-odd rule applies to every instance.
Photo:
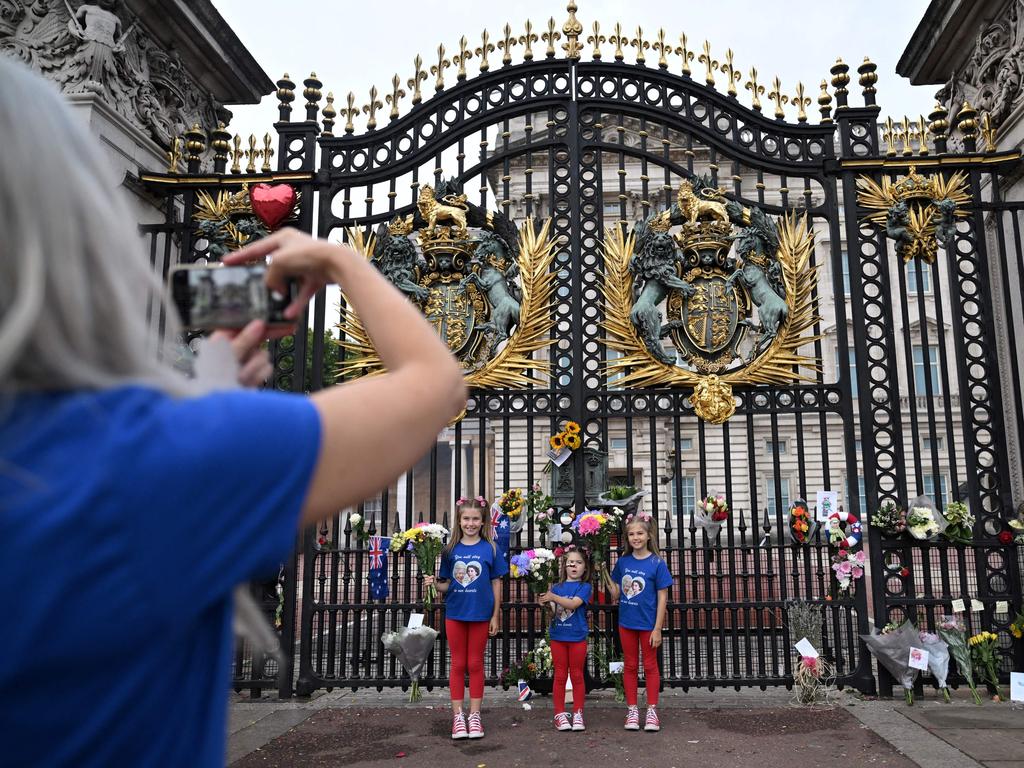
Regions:
[[232, 589], [412, 466], [462, 375], [365, 259], [281, 231], [237, 260], [272, 254], [302, 301], [342, 284], [387, 374], [203, 393], [147, 330], [165, 292], [98, 146], [35, 75], [0, 82], [0, 763], [222, 765]]

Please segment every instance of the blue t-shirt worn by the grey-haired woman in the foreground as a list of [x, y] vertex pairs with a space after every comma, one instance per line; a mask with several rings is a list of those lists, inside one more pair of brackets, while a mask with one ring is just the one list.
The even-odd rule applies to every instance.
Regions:
[[224, 765], [231, 592], [287, 557], [319, 439], [272, 392], [0, 402], [0, 763]]

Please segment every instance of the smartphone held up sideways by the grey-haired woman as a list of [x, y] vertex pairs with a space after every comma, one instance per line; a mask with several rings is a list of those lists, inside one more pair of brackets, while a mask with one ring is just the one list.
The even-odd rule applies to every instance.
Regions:
[[184, 264], [171, 269], [171, 297], [190, 331], [244, 328], [254, 319], [292, 326], [285, 309], [298, 296], [297, 282], [282, 294], [264, 282], [265, 264]]

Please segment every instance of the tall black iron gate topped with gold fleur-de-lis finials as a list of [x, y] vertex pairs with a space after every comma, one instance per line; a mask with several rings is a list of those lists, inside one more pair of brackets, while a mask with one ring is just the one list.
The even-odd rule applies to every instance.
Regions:
[[[417, 57], [408, 94], [395, 76], [385, 99], [388, 122], [379, 125], [384, 104], [374, 89], [362, 108], [367, 130], [358, 134], [353, 121], [359, 111], [349, 96], [338, 121], [344, 121], [343, 130], [334, 135], [339, 116], [331, 98], [322, 110], [322, 84], [312, 76], [303, 83], [305, 120], [292, 119], [296, 86], [286, 76], [278, 84], [279, 170], [257, 172], [250, 159], [243, 172], [239, 144], [231, 153], [230, 136], [221, 130], [212, 134], [214, 172], [202, 175], [205, 136], [195, 131], [187, 175], [146, 177], [168, 197], [168, 223], [151, 228], [152, 253], [166, 249], [167, 263], [173, 243], [182, 258], [205, 257], [206, 251], [197, 250], [206, 244], [193, 220], [198, 191], [237, 190], [257, 180], [292, 184], [303, 201], [297, 225], [340, 240], [414, 211], [419, 191], [447, 177], [471, 201], [516, 222], [550, 218], [560, 244], [551, 267], [555, 323], [552, 345], [538, 353], [550, 360], [550, 379], [538, 377], [522, 389], [473, 390], [465, 417], [438, 437], [429, 456], [354, 510], [372, 532], [387, 536], [419, 520], [450, 524], [459, 496], [493, 498], [535, 483], [553, 487], [543, 459], [547, 437], [571, 419], [583, 426], [584, 450], [571, 459], [567, 505], [582, 509], [597, 490], [587, 484], [595, 465], [606, 469], [609, 480], [648, 492], [644, 503], [658, 521], [676, 578], [662, 654], [667, 685], [792, 684], [792, 646], [799, 639], [787, 618], [793, 601], [818, 606], [821, 649], [835, 663], [840, 683], [865, 691], [873, 690], [876, 678], [857, 636], [868, 631], [869, 611], [880, 625], [908, 615], [934, 627], [951, 599], [977, 599], [984, 608], [969, 612], [972, 627], [1002, 630], [1010, 647], [1005, 630], [1021, 606], [1020, 563], [998, 535], [1013, 507], [1006, 428], [1016, 426], [1021, 434], [1021, 417], [1016, 425], [1001, 423], [1000, 389], [993, 385], [999, 370], [988, 309], [1012, 297], [1007, 282], [1006, 296], [993, 297], [990, 290], [993, 254], [986, 252], [984, 231], [987, 218], [1010, 217], [1013, 239], [1002, 237], [1007, 227], [1000, 226], [996, 255], [1010, 264], [1008, 249], [1016, 247], [1020, 261], [1018, 212], [996, 193], [998, 175], [1019, 163], [1018, 156], [978, 153], [974, 126], [963, 122], [963, 111], [964, 151], [955, 154], [947, 152], [940, 113], [932, 116], [931, 147], [924, 120], [918, 138], [909, 125], [900, 135], [892, 127], [883, 132], [868, 62], [858, 70], [864, 106], [848, 104], [849, 69], [838, 63], [831, 71], [835, 121], [822, 82], [820, 122], [808, 122], [810, 98], [799, 86], [792, 96], [794, 123], [783, 110], [792, 94], [782, 92], [777, 79], [767, 96], [774, 119], [762, 113], [766, 88], [756, 71], [745, 85], [753, 109], [740, 104], [735, 83], [741, 78], [731, 51], [720, 69], [706, 44], [695, 65], [685, 37], [674, 48], [662, 33], [651, 47], [638, 31], [630, 56], [635, 61], [627, 62], [629, 41], [616, 29], [609, 39], [614, 52], [606, 60], [602, 55], [609, 50], [602, 51], [597, 26], [586, 49], [581, 30], [570, 4], [563, 34], [552, 23], [536, 55], [537, 35], [527, 30], [520, 39], [507, 31], [503, 60], [494, 61], [494, 69], [487, 55], [495, 48], [484, 36], [475, 50], [480, 73], [472, 78], [465, 69], [472, 52], [465, 39], [458, 55], [438, 51], [432, 78]], [[513, 63], [517, 43], [523, 60]], [[650, 62], [645, 50], [652, 51]], [[591, 60], [583, 60], [588, 54]], [[691, 67], [701, 67], [706, 76], [694, 76]], [[449, 68], [454, 82], [445, 75]], [[716, 90], [716, 71], [726, 93]], [[436, 92], [424, 100], [426, 83]], [[413, 108], [400, 116], [406, 96]], [[889, 151], [880, 151], [881, 136], [892, 139]], [[271, 154], [263, 156], [267, 170]], [[916, 260], [906, 268], [887, 245], [885, 227], [862, 223], [866, 211], [857, 202], [857, 179], [895, 180], [911, 165], [933, 175], [963, 169], [972, 202], [957, 224], [955, 245], [940, 251], [935, 264]], [[611, 231], [667, 210], [680, 181], [697, 177], [770, 216], [806, 215], [818, 243], [810, 254], [810, 265], [820, 270], [812, 293], [817, 319], [804, 347], [816, 370], [809, 380], [736, 387], [735, 415], [719, 426], [695, 415], [689, 389], [618, 385], [621, 374], [608, 368], [615, 352], [603, 325], [604, 249]], [[911, 291], [908, 281], [920, 290]], [[276, 387], [301, 391], [324, 384], [325, 331], [336, 322], [336, 301], [321, 295], [310, 308], [308, 370], [306, 337], [276, 347]], [[1014, 358], [1019, 394], [1016, 366]], [[915, 388], [919, 376], [924, 386]], [[870, 528], [864, 537], [869, 572], [852, 596], [841, 596], [822, 532], [806, 547], [790, 539], [792, 503], [813, 501], [819, 489], [838, 490], [845, 511], [865, 522], [888, 499], [905, 503], [924, 494], [940, 506], [953, 498], [969, 501], [979, 518], [976, 543], [884, 540]], [[693, 506], [713, 492], [725, 494], [733, 512], [721, 534], [709, 538]], [[290, 695], [293, 681], [299, 694], [408, 683], [380, 636], [420, 607], [420, 579], [408, 559], [392, 558], [391, 596], [371, 600], [368, 553], [352, 534], [350, 512], [340, 511], [304, 537], [296, 561], [285, 569], [285, 668], [278, 674], [275, 666], [240, 649], [239, 688], [278, 686]], [[529, 523], [513, 548], [535, 545], [538, 534]], [[274, 603], [271, 598], [271, 609]], [[437, 609], [427, 621], [443, 625]], [[609, 684], [604, 663], [615, 654], [613, 621], [613, 611], [595, 604], [589, 663], [594, 684]], [[502, 627], [487, 649], [492, 683], [543, 636], [541, 611], [519, 583], [505, 586]], [[1018, 664], [1024, 660], [1020, 643], [1013, 652]], [[441, 637], [426, 683], [445, 681]]]

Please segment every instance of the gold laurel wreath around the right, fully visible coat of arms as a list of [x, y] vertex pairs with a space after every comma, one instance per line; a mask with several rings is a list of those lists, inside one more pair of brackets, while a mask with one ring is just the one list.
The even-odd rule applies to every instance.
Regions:
[[[798, 369], [820, 370], [817, 358], [799, 352], [800, 347], [822, 338], [804, 336], [820, 317], [814, 313], [812, 294], [817, 285], [818, 268], [811, 266], [810, 255], [814, 234], [807, 224], [806, 214], [791, 213], [778, 219], [778, 260], [785, 284], [785, 303], [790, 313], [778, 335], [750, 365], [721, 374], [719, 378], [734, 384], [782, 384], [792, 381], [814, 381]], [[696, 386], [705, 377], [695, 371], [670, 366], [655, 358], [644, 345], [630, 319], [633, 308], [633, 275], [630, 257], [636, 245], [636, 234], [610, 227], [604, 240], [604, 297], [607, 316], [602, 326], [607, 331], [605, 344], [622, 353], [608, 360], [604, 368], [615, 386], [655, 387]]]

